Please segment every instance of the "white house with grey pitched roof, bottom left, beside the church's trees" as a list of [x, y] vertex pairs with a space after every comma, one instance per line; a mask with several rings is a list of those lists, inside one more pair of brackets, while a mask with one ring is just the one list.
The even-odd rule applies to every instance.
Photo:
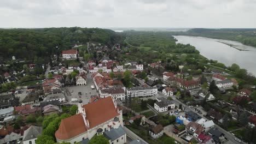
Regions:
[[42, 134], [42, 127], [31, 125], [30, 128], [24, 131], [23, 143], [24, 144], [36, 144], [37, 137]]

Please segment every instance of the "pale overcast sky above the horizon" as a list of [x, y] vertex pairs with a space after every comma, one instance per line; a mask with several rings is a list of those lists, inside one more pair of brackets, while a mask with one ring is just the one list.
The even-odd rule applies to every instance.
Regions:
[[0, 27], [255, 28], [256, 0], [1, 0]]

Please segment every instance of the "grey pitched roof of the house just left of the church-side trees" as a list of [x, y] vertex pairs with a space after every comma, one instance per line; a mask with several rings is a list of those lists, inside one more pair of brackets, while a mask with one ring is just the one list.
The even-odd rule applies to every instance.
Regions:
[[43, 130], [42, 127], [37, 127], [37, 126], [31, 125], [30, 128], [28, 128], [27, 130], [24, 131], [22, 141], [27, 141], [27, 140], [37, 138], [37, 136], [42, 134], [42, 130]]

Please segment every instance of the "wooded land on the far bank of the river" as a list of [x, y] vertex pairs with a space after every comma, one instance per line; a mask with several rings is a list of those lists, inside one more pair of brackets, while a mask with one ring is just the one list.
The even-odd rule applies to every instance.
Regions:
[[255, 28], [222, 28], [206, 29], [193, 28], [187, 32], [173, 32], [174, 35], [191, 35], [198, 37], [207, 37], [214, 39], [225, 39], [239, 41], [242, 44], [256, 47], [256, 29]]

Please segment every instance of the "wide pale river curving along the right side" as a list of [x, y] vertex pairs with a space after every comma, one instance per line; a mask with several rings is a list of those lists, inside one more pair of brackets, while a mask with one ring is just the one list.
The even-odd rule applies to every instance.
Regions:
[[[190, 37], [190, 36], [174, 36], [181, 44], [190, 44], [196, 47], [200, 51], [202, 56], [208, 59], [217, 60], [230, 66], [232, 63], [240, 65], [241, 68], [245, 68], [249, 73], [256, 75], [256, 48], [252, 46], [243, 45], [237, 41], [219, 40], [205, 37]], [[249, 51], [240, 51], [229, 45], [219, 43], [232, 44], [238, 49], [245, 49]]]

